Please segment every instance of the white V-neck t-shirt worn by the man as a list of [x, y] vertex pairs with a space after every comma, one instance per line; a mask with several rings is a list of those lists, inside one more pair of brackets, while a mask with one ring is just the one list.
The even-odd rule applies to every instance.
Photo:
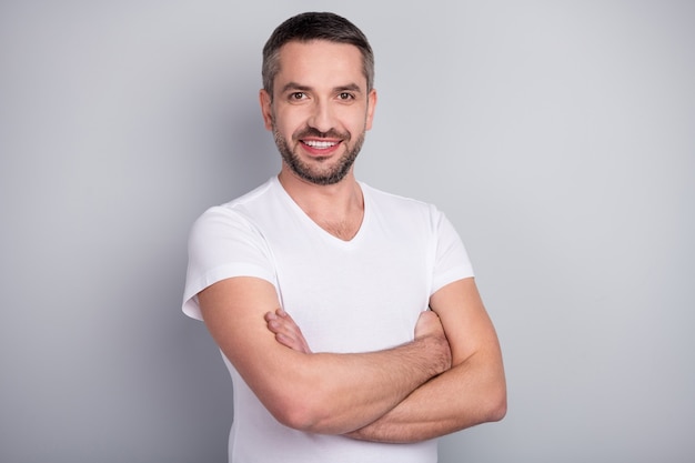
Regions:
[[[314, 223], [276, 177], [205, 211], [192, 228], [183, 311], [200, 320], [197, 294], [228, 278], [271, 282], [314, 352], [367, 352], [411, 341], [440, 288], [473, 276], [443, 213], [360, 183], [364, 219], [350, 241]], [[436, 441], [380, 444], [303, 433], [278, 423], [224, 359], [233, 383], [232, 463], [429, 463]]]

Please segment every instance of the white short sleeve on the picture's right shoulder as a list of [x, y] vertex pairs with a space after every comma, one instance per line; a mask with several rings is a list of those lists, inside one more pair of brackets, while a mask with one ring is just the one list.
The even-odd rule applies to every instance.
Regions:
[[432, 278], [432, 294], [449, 283], [474, 276], [473, 265], [469, 253], [461, 241], [454, 225], [444, 213], [434, 211], [436, 232], [436, 250], [434, 260], [434, 275]]

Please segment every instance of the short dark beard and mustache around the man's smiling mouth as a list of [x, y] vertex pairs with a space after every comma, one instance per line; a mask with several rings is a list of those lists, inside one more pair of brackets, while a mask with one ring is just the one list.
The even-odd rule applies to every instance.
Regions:
[[[302, 161], [294, 151], [292, 151], [290, 143], [288, 143], [288, 140], [278, 131], [275, 123], [273, 122], [273, 138], [275, 139], [278, 151], [280, 151], [282, 160], [299, 178], [316, 185], [331, 185], [343, 180], [345, 175], [348, 175], [348, 172], [350, 172], [350, 169], [354, 164], [355, 159], [357, 159], [357, 154], [362, 149], [362, 144], [364, 143], [364, 131], [362, 131], [362, 133], [360, 133], [356, 138], [352, 148], [349, 147], [349, 142], [352, 139], [350, 133], [340, 133], [334, 130], [320, 132], [316, 129], [306, 128], [293, 137], [293, 140], [301, 140], [302, 138], [310, 135], [340, 139], [342, 143], [348, 147], [348, 149], [333, 165], [318, 168], [309, 165], [306, 162]], [[329, 158], [315, 158], [315, 161], [323, 164], [328, 163]]]

